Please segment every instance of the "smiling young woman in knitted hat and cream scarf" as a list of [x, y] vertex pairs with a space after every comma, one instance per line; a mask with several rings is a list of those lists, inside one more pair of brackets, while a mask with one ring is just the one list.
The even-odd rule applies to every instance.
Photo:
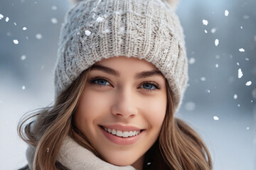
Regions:
[[67, 13], [54, 104], [18, 125], [23, 169], [212, 169], [201, 137], [175, 118], [188, 66], [174, 4], [88, 0]]

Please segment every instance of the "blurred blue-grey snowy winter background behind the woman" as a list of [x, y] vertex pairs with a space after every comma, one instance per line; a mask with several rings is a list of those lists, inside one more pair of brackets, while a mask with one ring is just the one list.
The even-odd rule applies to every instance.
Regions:
[[[21, 116], [53, 101], [63, 0], [0, 1], [0, 169], [26, 164]], [[178, 116], [206, 141], [214, 169], [255, 164], [256, 1], [183, 0], [189, 86]]]

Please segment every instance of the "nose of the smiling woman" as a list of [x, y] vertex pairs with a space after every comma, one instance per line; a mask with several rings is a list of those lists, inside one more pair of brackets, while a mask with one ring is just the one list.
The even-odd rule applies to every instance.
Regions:
[[135, 95], [129, 89], [117, 91], [117, 97], [112, 105], [111, 112], [122, 118], [132, 118], [138, 114]]

